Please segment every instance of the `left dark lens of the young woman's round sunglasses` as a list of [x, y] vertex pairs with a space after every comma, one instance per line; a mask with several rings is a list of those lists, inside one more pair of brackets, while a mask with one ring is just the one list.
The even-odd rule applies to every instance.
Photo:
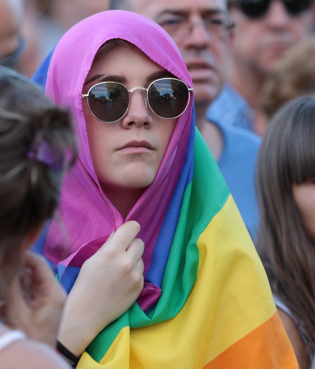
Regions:
[[88, 104], [97, 119], [103, 122], [115, 122], [127, 111], [128, 91], [119, 83], [99, 83], [90, 90]]

